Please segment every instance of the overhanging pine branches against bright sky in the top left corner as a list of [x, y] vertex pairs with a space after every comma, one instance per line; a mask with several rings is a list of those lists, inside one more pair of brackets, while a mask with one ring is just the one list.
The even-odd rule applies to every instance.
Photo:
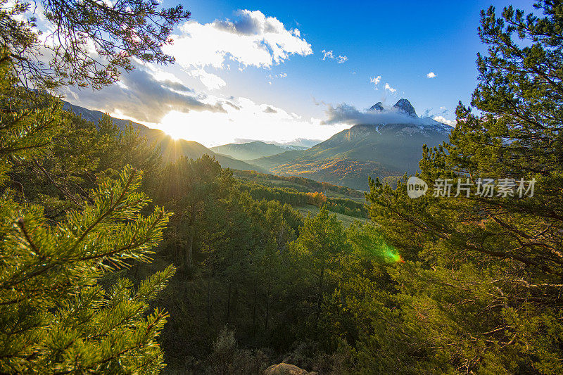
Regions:
[[[172, 63], [162, 48], [172, 42], [174, 25], [190, 16], [180, 5], [160, 8], [154, 0], [44, 0], [42, 16], [50, 28], [43, 43], [35, 16], [39, 8], [25, 1], [0, 5], [0, 46], [14, 59], [15, 77], [25, 87], [46, 89], [61, 84], [99, 89], [133, 70], [134, 59]], [[41, 47], [49, 51], [49, 64], [39, 57]]]

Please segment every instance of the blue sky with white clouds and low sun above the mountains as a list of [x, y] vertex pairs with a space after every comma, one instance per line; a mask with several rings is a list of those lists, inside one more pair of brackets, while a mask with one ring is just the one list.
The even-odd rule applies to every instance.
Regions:
[[[177, 0], [164, 0], [175, 6]], [[68, 89], [71, 103], [205, 146], [324, 140], [379, 101], [455, 124], [476, 87], [479, 12], [529, 1], [183, 1], [167, 66]], [[343, 110], [345, 109], [345, 110]], [[340, 114], [340, 116], [336, 115]]]

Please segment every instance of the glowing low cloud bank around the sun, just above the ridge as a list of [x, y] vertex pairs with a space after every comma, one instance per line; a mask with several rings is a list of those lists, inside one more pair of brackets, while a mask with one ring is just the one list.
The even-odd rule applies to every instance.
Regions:
[[279, 142], [294, 141], [296, 136], [327, 139], [350, 127], [323, 125], [320, 118], [306, 118], [249, 98], [198, 94], [171, 73], [148, 66], [122, 75], [119, 84], [99, 91], [69, 90], [67, 94], [73, 104], [141, 122], [205, 146], [240, 138]]

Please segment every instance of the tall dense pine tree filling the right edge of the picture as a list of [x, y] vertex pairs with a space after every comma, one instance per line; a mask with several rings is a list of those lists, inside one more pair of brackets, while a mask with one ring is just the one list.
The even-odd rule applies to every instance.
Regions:
[[[393, 190], [370, 181], [372, 219], [407, 262], [388, 269], [393, 302], [374, 308], [377, 334], [364, 353], [393, 350], [388, 342], [399, 349], [371, 364], [365, 357], [368, 368], [563, 371], [563, 6], [537, 8], [542, 17], [483, 11], [488, 56], [478, 56], [472, 97], [480, 112], [460, 103], [449, 144], [424, 150], [419, 177], [430, 185], [453, 179], [454, 193], [469, 179], [469, 198], [430, 191], [412, 200], [404, 183]], [[480, 178], [516, 186], [479, 196]], [[520, 179], [526, 188], [535, 180], [533, 196], [519, 197]]]

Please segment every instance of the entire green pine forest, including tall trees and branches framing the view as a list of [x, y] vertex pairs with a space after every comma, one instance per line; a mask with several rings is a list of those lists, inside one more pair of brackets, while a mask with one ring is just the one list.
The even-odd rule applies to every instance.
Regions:
[[429, 191], [369, 179], [366, 208], [63, 110], [49, 90], [172, 61], [189, 12], [156, 3], [46, 1], [72, 47], [53, 70], [30, 63], [26, 6], [0, 11], [0, 373], [563, 373], [563, 6], [483, 11], [472, 106], [422, 150]]

